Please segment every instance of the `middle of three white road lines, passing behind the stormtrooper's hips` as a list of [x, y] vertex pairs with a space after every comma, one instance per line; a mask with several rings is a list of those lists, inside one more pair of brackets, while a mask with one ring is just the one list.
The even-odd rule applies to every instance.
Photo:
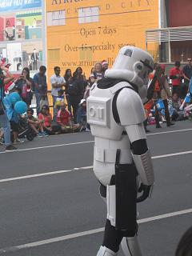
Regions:
[[[152, 159], [170, 158], [170, 157], [174, 157], [174, 156], [182, 155], [182, 154], [192, 154], [192, 150], [184, 151], [184, 152], [177, 152], [177, 153], [173, 153], [173, 154], [156, 155], [156, 156], [152, 157]], [[70, 170], [55, 170], [55, 171], [42, 173], [42, 174], [31, 174], [31, 175], [26, 175], [26, 176], [18, 176], [18, 177], [14, 177], [14, 178], [3, 178], [3, 179], [0, 179], [0, 182], [12, 182], [12, 181], [26, 179], [26, 178], [38, 178], [38, 177], [42, 177], [42, 176], [50, 176], [50, 175], [55, 175], [55, 174], [69, 173], [69, 172], [75, 171], [75, 170], [89, 170], [92, 168], [93, 168], [93, 166], [84, 166], [84, 167], [75, 167]]]

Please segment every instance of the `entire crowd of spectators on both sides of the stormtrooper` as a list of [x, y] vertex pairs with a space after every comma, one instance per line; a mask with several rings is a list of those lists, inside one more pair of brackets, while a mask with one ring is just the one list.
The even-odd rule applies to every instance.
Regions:
[[[167, 126], [172, 126], [174, 121], [190, 118], [190, 111], [186, 110], [190, 101], [185, 104], [183, 101], [185, 101], [190, 88], [191, 58], [188, 58], [188, 64], [183, 69], [180, 66], [180, 62], [175, 62], [174, 68], [169, 70], [169, 74], [166, 74], [165, 66], [155, 63], [153, 72], [149, 74], [149, 101], [144, 105], [146, 110], [145, 126], [155, 123], [157, 128], [161, 128], [162, 122], [166, 122]], [[18, 92], [28, 108], [26, 114], [20, 118], [26, 120], [35, 136], [90, 131], [90, 126], [86, 122], [86, 98], [90, 95], [90, 86], [104, 77], [108, 68], [106, 61], [97, 62], [90, 70], [88, 78], [80, 66], [73, 71], [67, 69], [65, 74], [61, 74], [60, 67], [55, 66], [53, 75], [49, 78], [51, 102], [48, 102], [47, 97], [46, 66], [40, 66], [38, 73], [34, 74], [34, 78], [30, 77], [30, 70], [24, 68], [17, 79], [14, 79], [7, 68], [1, 65], [0, 67], [3, 77], [1, 98], [6, 101], [6, 94], [13, 91]], [[32, 107], [33, 97], [36, 99], [36, 106]], [[53, 110], [50, 110], [50, 106], [53, 106]], [[2, 116], [0, 117], [2, 119]], [[17, 118], [13, 115], [9, 117], [8, 112], [6, 117], [10, 122], [11, 130], [13, 130], [13, 143], [21, 143], [22, 140], [18, 138]], [[5, 142], [6, 134], [3, 133], [5, 120], [0, 120], [0, 124], [0, 139], [4, 138], [2, 141]], [[6, 142], [6, 145], [12, 146], [10, 141]]]

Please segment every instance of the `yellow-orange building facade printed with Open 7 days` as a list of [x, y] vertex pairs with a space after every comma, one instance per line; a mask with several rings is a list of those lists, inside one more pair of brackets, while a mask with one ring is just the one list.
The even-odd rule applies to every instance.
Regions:
[[88, 78], [96, 62], [112, 66], [122, 46], [146, 49], [145, 32], [158, 18], [158, 0], [46, 0], [48, 77], [54, 66], [62, 74], [82, 66]]

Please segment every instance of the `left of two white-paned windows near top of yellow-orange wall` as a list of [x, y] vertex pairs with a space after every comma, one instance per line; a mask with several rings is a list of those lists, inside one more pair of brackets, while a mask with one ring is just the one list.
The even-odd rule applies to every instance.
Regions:
[[50, 11], [47, 13], [47, 26], [62, 26], [66, 25], [65, 10]]

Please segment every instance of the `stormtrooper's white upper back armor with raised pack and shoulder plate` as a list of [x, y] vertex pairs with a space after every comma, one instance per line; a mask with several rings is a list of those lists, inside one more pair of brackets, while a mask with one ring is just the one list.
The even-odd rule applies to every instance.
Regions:
[[[122, 102], [122, 110], [118, 111], [118, 114], [122, 116], [123, 123], [118, 124], [114, 120], [112, 103], [114, 94], [120, 89], [122, 90], [117, 102], [118, 110]], [[91, 133], [95, 137], [120, 140], [124, 130], [123, 126], [139, 124], [144, 120], [142, 100], [128, 82], [118, 82], [108, 89], [99, 89], [97, 83], [91, 87], [90, 97], [87, 99], [87, 122], [90, 123]]]

